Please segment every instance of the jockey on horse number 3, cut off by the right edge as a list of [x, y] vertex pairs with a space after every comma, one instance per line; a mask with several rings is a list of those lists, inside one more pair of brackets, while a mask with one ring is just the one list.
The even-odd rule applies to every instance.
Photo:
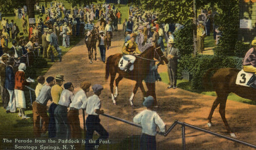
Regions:
[[[247, 85], [250, 85], [252, 88], [256, 88], [256, 39], [253, 39], [251, 41], [251, 46], [252, 48], [250, 48], [247, 53], [245, 54], [244, 57], [244, 62], [243, 62], [243, 68], [244, 71], [246, 72], [253, 72], [254, 75], [252, 76], [254, 78], [254, 80], [249, 80]], [[251, 82], [250, 82], [251, 81]]]

